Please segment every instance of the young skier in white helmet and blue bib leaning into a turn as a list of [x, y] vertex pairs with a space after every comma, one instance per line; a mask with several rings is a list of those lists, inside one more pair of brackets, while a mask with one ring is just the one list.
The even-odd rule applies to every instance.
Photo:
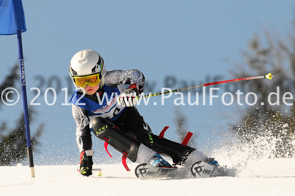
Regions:
[[[92, 174], [91, 132], [138, 164], [171, 167], [160, 154], [169, 155], [175, 164], [190, 166], [196, 161], [218, 165], [195, 148], [158, 137], [139, 114], [136, 96], [144, 90], [145, 77], [136, 70], [106, 71], [103, 58], [93, 50], [76, 53], [69, 66], [76, 87], [70, 102], [77, 124], [80, 150], [78, 171]], [[126, 89], [122, 84], [129, 84]], [[126, 166], [127, 167], [127, 166]]]

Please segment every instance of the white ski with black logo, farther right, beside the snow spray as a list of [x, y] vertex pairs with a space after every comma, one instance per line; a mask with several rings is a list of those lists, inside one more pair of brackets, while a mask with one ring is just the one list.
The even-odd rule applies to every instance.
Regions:
[[210, 178], [217, 176], [228, 176], [228, 169], [225, 167], [217, 167], [198, 161], [191, 166], [191, 173], [196, 178]]

